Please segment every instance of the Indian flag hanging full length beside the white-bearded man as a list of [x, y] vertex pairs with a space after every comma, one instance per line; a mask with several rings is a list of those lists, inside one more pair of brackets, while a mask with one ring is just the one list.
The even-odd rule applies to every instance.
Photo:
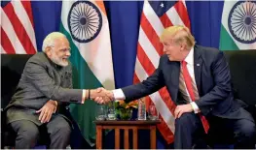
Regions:
[[[109, 25], [103, 1], [62, 1], [60, 31], [71, 46], [73, 87], [115, 89]], [[70, 105], [82, 135], [93, 145], [95, 103]]]

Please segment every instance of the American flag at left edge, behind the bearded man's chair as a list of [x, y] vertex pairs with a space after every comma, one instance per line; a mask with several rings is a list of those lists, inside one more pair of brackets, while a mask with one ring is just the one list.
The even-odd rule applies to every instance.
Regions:
[[30, 1], [1, 1], [1, 53], [36, 53]]

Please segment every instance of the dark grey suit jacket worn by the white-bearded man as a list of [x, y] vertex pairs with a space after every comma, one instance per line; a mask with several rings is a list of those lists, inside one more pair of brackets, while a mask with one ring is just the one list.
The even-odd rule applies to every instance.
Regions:
[[5, 108], [7, 123], [17, 120], [30, 120], [41, 125], [38, 120], [39, 110], [49, 100], [58, 103], [57, 113], [64, 112], [65, 105], [81, 103], [82, 90], [72, 89], [72, 67], [55, 65], [45, 53], [33, 55], [26, 63], [19, 79], [18, 87], [12, 101]]

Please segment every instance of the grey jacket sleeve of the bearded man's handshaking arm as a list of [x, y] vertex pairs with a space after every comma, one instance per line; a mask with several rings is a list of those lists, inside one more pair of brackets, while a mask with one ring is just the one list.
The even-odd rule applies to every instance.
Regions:
[[62, 88], [56, 85], [55, 80], [48, 75], [47, 67], [43, 65], [43, 62], [28, 61], [24, 72], [28, 81], [50, 100], [66, 103], [82, 102], [83, 90]]

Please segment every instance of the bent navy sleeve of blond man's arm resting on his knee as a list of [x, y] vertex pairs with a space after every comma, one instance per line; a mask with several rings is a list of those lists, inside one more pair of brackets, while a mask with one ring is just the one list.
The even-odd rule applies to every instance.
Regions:
[[211, 73], [215, 86], [210, 92], [195, 102], [204, 115], [207, 114], [214, 105], [227, 99], [232, 92], [230, 70], [223, 51], [219, 51], [214, 59], [211, 65]]

